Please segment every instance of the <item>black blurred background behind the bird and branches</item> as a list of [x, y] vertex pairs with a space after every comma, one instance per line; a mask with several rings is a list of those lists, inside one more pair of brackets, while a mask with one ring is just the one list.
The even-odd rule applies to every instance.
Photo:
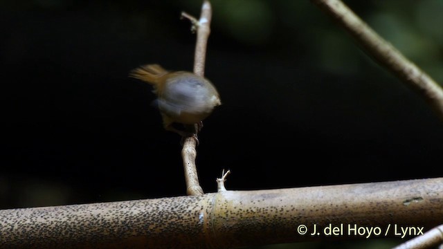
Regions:
[[[437, 82], [443, 2], [347, 1]], [[192, 71], [201, 1], [1, 1], [0, 208], [186, 194], [141, 64]], [[206, 192], [443, 176], [443, 122], [309, 1], [213, 1]]]

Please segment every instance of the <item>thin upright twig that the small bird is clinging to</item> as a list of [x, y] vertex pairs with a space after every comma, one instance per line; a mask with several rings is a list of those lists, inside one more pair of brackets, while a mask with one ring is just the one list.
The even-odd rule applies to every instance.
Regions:
[[[195, 44], [194, 57], [194, 73], [201, 77], [204, 76], [205, 61], [206, 61], [206, 44], [208, 44], [208, 37], [210, 33], [210, 20], [212, 17], [212, 10], [209, 1], [205, 0], [201, 6], [200, 19], [188, 15], [186, 12], [181, 13], [181, 17], [189, 19], [192, 23], [192, 30], [197, 30], [197, 42]], [[195, 128], [195, 134], [198, 129]], [[181, 157], [183, 158], [183, 167], [186, 178], [186, 193], [188, 195], [204, 194], [199, 184], [197, 175], [197, 165], [195, 158], [197, 157], [197, 140], [194, 137], [185, 138], [183, 141], [183, 149], [181, 149]]]

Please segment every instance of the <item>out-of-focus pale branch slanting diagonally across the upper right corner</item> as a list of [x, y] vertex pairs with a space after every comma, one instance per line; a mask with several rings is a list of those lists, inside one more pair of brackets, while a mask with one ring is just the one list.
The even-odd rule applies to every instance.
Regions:
[[443, 118], [443, 89], [399, 50], [386, 42], [340, 0], [311, 0], [336, 19], [377, 62], [408, 84]]

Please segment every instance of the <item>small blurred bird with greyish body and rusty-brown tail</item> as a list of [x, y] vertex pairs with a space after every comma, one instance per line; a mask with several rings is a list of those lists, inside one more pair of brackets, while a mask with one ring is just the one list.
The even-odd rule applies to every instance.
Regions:
[[149, 64], [135, 68], [129, 73], [129, 77], [154, 86], [163, 127], [183, 137], [190, 136], [190, 132], [174, 128], [174, 122], [185, 125], [198, 124], [200, 129], [201, 121], [210, 115], [214, 107], [221, 104], [215, 86], [206, 78], [194, 73], [169, 72], [160, 65]]

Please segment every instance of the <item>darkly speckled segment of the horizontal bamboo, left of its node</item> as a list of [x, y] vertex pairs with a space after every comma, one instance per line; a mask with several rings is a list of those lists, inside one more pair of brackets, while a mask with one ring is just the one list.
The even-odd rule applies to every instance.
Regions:
[[204, 216], [210, 210], [202, 210], [210, 205], [208, 197], [0, 210], [0, 248], [144, 248], [161, 241], [165, 248], [180, 248], [176, 237], [199, 244], [208, 225]]

